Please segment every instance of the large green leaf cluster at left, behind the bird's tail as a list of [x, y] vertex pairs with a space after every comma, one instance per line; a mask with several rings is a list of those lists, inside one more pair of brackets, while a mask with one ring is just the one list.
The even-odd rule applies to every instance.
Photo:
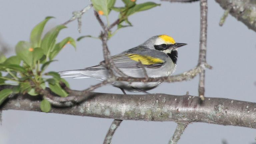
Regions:
[[[45, 70], [49, 64], [56, 61], [54, 58], [66, 44], [76, 47], [76, 43], [71, 37], [56, 43], [60, 30], [66, 28], [64, 25], [58, 25], [42, 36], [46, 23], [52, 18], [46, 17], [32, 29], [30, 41], [17, 43], [15, 56], [9, 58], [0, 56], [0, 85], [14, 85], [12, 89], [0, 91], [0, 105], [11, 93], [27, 93], [31, 96], [42, 94], [41, 91], [46, 85], [61, 97], [68, 95], [59, 84], [64, 82], [68, 85], [68, 83], [57, 72], [45, 73]], [[45, 101], [42, 104], [49, 105]]]

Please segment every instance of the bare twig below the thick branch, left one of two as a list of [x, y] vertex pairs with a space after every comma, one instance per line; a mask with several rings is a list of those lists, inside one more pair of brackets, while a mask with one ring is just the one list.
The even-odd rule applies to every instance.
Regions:
[[120, 123], [122, 122], [123, 120], [118, 120], [118, 119], [115, 119], [113, 120], [109, 130], [108, 130], [108, 133], [105, 137], [105, 140], [103, 142], [103, 144], [111, 144], [111, 141], [112, 141], [112, 138], [113, 138], [113, 135], [116, 131], [116, 129], [118, 128], [118, 126], [120, 125]]

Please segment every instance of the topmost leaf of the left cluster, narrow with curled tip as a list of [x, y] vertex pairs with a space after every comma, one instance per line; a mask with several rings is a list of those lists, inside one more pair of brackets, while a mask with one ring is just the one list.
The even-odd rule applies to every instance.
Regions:
[[41, 36], [44, 29], [45, 24], [49, 19], [53, 17], [46, 17], [45, 20], [37, 24], [30, 34], [30, 42], [32, 43], [32, 47], [40, 47], [41, 43]]

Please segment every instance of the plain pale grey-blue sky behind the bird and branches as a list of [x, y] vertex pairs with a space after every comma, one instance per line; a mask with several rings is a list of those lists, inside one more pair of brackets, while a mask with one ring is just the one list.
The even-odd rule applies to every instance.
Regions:
[[[146, 0], [137, 0], [137, 3]], [[179, 49], [175, 74], [196, 66], [199, 49], [199, 2], [169, 3], [132, 15], [133, 27], [121, 29], [113, 36], [108, 46], [111, 54], [135, 47], [154, 35], [167, 34], [176, 42], [187, 43]], [[72, 12], [89, 4], [87, 0], [0, 0], [0, 35], [12, 48], [20, 40], [29, 40], [31, 29], [46, 16], [54, 16], [46, 25], [52, 27], [67, 21]], [[116, 6], [122, 6], [117, 0]], [[206, 70], [206, 97], [230, 98], [256, 102], [256, 33], [249, 30], [234, 17], [228, 16], [223, 27], [218, 25], [224, 10], [213, 0], [208, 4], [207, 62], [213, 66]], [[117, 13], [110, 13], [113, 22]], [[100, 25], [91, 9], [83, 15], [82, 32], [77, 31], [77, 22], [67, 25], [58, 40], [67, 36], [98, 36]], [[8, 56], [14, 55], [14, 50]], [[66, 46], [56, 57], [48, 71], [80, 69], [98, 64], [103, 60], [101, 42], [86, 38], [77, 42], [77, 51]], [[82, 90], [98, 83], [94, 79], [71, 79], [71, 88]], [[188, 82], [164, 83], [149, 91], [198, 95], [198, 77]], [[118, 88], [104, 86], [97, 92], [121, 93]], [[29, 111], [3, 111], [0, 126], [0, 144], [101, 144], [112, 119], [70, 116]], [[145, 122], [126, 120], [117, 129], [113, 144], [166, 144], [176, 127], [174, 122]], [[225, 139], [229, 144], [255, 143], [255, 129], [221, 126], [208, 123], [190, 124], [179, 144], [220, 144]]]

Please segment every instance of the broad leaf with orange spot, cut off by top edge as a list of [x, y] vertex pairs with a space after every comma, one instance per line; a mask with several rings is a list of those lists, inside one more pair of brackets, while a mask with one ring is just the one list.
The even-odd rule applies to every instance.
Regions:
[[102, 11], [103, 15], [107, 16], [115, 5], [116, 0], [91, 0], [91, 2], [97, 12]]

